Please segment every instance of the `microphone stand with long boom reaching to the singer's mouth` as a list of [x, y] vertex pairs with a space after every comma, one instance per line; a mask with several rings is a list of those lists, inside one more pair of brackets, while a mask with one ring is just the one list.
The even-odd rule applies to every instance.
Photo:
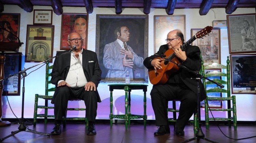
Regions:
[[[65, 53], [62, 53], [62, 54], [58, 55], [58, 56], [71, 53], [71, 52], [73, 52], [74, 50], [75, 50], [75, 49], [71, 49], [71, 50], [69, 50], [69, 51], [67, 51], [67, 52], [65, 52]], [[21, 117], [21, 120], [20, 120], [20, 125], [19, 125], [19, 127], [18, 127], [18, 130], [12, 131], [11, 134], [9, 134], [8, 136], [6, 136], [6, 137], [0, 139], [0, 142], [2, 142], [3, 140], [5, 140], [5, 139], [7, 139], [7, 138], [9, 138], [9, 137], [11, 137], [11, 136], [13, 136], [14, 134], [16, 134], [16, 133], [18, 133], [18, 132], [21, 132], [21, 131], [37, 133], [37, 134], [42, 134], [42, 135], [46, 135], [46, 136], [50, 136], [50, 135], [51, 135], [51, 134], [49, 134], [49, 133], [43, 133], [43, 132], [38, 132], [38, 131], [26, 129], [26, 126], [25, 126], [24, 123], [23, 123], [23, 120], [24, 120], [24, 93], [25, 93], [25, 87], [24, 87], [24, 85], [25, 85], [25, 77], [27, 76], [26, 70], [28, 70], [28, 69], [30, 69], [30, 68], [33, 68], [33, 67], [35, 67], [35, 66], [38, 66], [38, 65], [40, 65], [40, 64], [42, 64], [42, 63], [46, 63], [46, 62], [48, 62], [49, 60], [54, 59], [54, 58], [56, 58], [56, 57], [58, 57], [58, 56], [56, 55], [56, 56], [54, 56], [54, 57], [52, 57], [52, 58], [50, 58], [50, 59], [48, 59], [48, 60], [45, 60], [45, 61], [43, 61], [43, 62], [41, 62], [41, 63], [36, 64], [36, 65], [33, 65], [33, 66], [29, 67], [29, 68], [26, 68], [26, 69], [24, 69], [24, 70], [21, 70], [20, 72], [18, 72], [18, 73], [16, 73], [16, 74], [10, 75], [10, 76], [8, 76], [7, 78], [4, 78], [4, 79], [1, 79], [1, 80], [0, 80], [0, 82], [1, 82], [1, 81], [5, 80], [5, 79], [8, 79], [8, 78], [10, 78], [10, 77], [12, 77], [12, 76], [15, 76], [15, 75], [17, 75], [17, 74], [22, 74], [22, 76], [23, 76], [23, 88], [22, 88], [22, 117]]]

